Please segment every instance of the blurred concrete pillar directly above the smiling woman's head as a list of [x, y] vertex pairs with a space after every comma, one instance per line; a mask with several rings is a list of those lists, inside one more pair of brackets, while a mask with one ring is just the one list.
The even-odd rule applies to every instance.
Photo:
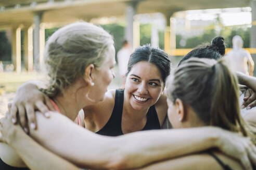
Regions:
[[[136, 14], [136, 8], [138, 5], [138, 1], [131, 1], [126, 3], [125, 9], [125, 19], [126, 19], [126, 26], [125, 26], [125, 39], [129, 41], [129, 43], [133, 46], [133, 31], [134, 31], [134, 15]], [[137, 25], [136, 25], [137, 26]]]

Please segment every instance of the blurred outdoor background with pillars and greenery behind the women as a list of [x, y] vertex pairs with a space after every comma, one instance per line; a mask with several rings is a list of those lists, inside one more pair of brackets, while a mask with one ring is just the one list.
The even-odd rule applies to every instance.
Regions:
[[[45, 41], [59, 27], [87, 21], [113, 35], [117, 52], [151, 44], [171, 55], [172, 67], [194, 48], [223, 36], [227, 50], [240, 35], [256, 62], [255, 0], [1, 0], [0, 117], [25, 81], [42, 79]], [[109, 88], [122, 84], [118, 65]], [[254, 75], [255, 75], [254, 71]]]

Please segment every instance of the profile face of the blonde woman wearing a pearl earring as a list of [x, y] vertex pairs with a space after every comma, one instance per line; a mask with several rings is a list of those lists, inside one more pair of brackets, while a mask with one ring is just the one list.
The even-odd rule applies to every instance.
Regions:
[[110, 82], [114, 78], [112, 68], [116, 64], [114, 59], [115, 50], [114, 46], [111, 45], [106, 53], [106, 60], [105, 62], [97, 69], [95, 69], [95, 77], [94, 77], [94, 86], [93, 89], [93, 96], [96, 97], [95, 101], [103, 101], [105, 93], [107, 92], [107, 87], [109, 86]]

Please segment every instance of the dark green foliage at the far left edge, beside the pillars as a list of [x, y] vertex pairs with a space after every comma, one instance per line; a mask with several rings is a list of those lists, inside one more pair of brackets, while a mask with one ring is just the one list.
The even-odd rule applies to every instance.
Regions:
[[11, 61], [11, 45], [5, 31], [0, 32], [0, 61]]

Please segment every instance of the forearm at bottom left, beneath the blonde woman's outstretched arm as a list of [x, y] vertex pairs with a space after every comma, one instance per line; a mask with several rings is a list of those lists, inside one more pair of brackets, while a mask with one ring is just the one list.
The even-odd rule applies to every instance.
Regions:
[[10, 145], [31, 169], [80, 169], [37, 144], [21, 129], [16, 128]]

